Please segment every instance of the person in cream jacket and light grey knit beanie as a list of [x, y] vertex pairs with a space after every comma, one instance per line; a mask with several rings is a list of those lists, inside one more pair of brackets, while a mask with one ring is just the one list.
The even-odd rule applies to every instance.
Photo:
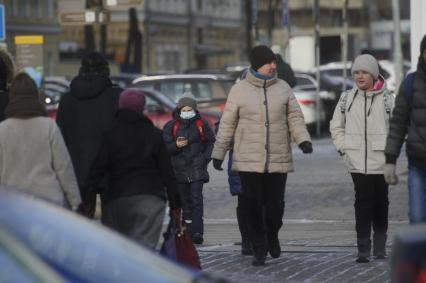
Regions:
[[377, 60], [363, 54], [352, 64], [355, 85], [343, 94], [330, 121], [333, 143], [346, 163], [355, 190], [358, 263], [386, 255], [388, 185], [384, 178], [385, 144], [394, 98], [379, 74]]

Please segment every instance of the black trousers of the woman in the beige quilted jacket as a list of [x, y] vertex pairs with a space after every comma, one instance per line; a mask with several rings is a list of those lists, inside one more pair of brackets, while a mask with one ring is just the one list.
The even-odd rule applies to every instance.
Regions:
[[240, 172], [250, 240], [256, 255], [266, 255], [267, 238], [277, 237], [283, 224], [287, 174]]

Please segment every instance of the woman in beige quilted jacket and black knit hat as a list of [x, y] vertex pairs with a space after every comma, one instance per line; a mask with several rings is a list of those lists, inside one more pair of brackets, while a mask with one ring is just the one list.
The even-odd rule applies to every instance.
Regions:
[[256, 46], [250, 64], [246, 78], [228, 95], [212, 158], [214, 168], [222, 170], [234, 140], [232, 169], [241, 179], [242, 206], [254, 249], [252, 265], [260, 266], [268, 251], [274, 258], [281, 255], [278, 232], [287, 173], [293, 171], [291, 140], [303, 153], [313, 149], [291, 87], [276, 77], [275, 54], [266, 46]]

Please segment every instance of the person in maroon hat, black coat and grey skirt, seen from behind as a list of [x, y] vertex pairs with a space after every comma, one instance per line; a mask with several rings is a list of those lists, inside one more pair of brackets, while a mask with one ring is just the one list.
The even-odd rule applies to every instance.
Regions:
[[106, 191], [102, 193], [104, 224], [155, 248], [166, 200], [174, 215], [180, 199], [162, 132], [143, 115], [144, 106], [142, 91], [123, 91], [117, 121], [103, 135], [88, 184], [99, 187], [104, 176], [108, 176]]

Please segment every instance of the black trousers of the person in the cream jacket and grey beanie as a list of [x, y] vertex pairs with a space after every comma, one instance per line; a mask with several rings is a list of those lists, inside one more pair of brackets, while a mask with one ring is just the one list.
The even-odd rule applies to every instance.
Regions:
[[383, 175], [351, 173], [355, 184], [355, 220], [358, 238], [370, 238], [388, 230], [388, 185]]

